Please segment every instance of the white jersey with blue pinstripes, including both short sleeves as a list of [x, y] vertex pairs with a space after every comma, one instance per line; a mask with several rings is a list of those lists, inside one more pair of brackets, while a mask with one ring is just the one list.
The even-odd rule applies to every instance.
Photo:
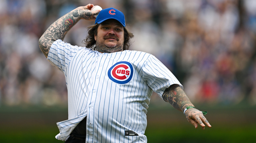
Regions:
[[[154, 92], [180, 84], [156, 57], [139, 51], [99, 53], [56, 40], [48, 61], [61, 70], [68, 89], [68, 120], [57, 123], [65, 140], [87, 116], [87, 142], [147, 142], [146, 113]], [[125, 131], [138, 136], [126, 136]]]

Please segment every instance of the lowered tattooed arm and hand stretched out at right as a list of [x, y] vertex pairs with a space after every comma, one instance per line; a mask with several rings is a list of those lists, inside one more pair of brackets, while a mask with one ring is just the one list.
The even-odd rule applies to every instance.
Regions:
[[[164, 101], [169, 102], [174, 108], [183, 112], [186, 107], [194, 106], [178, 84], [171, 85], [169, 88], [165, 89], [162, 97]], [[185, 116], [195, 128], [198, 127], [198, 123], [202, 126], [203, 130], [205, 125], [211, 127], [209, 122], [203, 116], [203, 113], [196, 108], [187, 109], [185, 111]]]

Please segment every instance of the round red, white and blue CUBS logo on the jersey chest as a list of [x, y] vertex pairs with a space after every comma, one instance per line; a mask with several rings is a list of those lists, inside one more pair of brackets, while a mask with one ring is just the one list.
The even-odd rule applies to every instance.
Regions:
[[126, 61], [117, 62], [108, 70], [108, 77], [117, 84], [126, 84], [133, 77], [133, 66]]

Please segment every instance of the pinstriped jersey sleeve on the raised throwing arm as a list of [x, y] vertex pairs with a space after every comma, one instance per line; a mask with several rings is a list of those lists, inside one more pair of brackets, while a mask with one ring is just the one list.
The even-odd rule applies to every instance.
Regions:
[[62, 40], [56, 40], [53, 42], [47, 60], [57, 69], [65, 72], [71, 59], [75, 56], [77, 51], [81, 47], [73, 46], [69, 43], [65, 43]]

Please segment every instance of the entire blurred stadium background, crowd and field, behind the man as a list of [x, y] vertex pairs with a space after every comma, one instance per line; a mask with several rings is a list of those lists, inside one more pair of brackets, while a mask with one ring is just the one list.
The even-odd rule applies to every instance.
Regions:
[[[256, 1], [254, 0], [0, 0], [0, 142], [61, 142], [67, 119], [63, 74], [38, 40], [56, 19], [88, 3], [114, 7], [135, 38], [131, 50], [158, 57], [212, 128], [194, 129], [155, 93], [148, 109], [149, 143], [253, 142], [256, 133]], [[83, 46], [80, 21], [64, 41]]]

